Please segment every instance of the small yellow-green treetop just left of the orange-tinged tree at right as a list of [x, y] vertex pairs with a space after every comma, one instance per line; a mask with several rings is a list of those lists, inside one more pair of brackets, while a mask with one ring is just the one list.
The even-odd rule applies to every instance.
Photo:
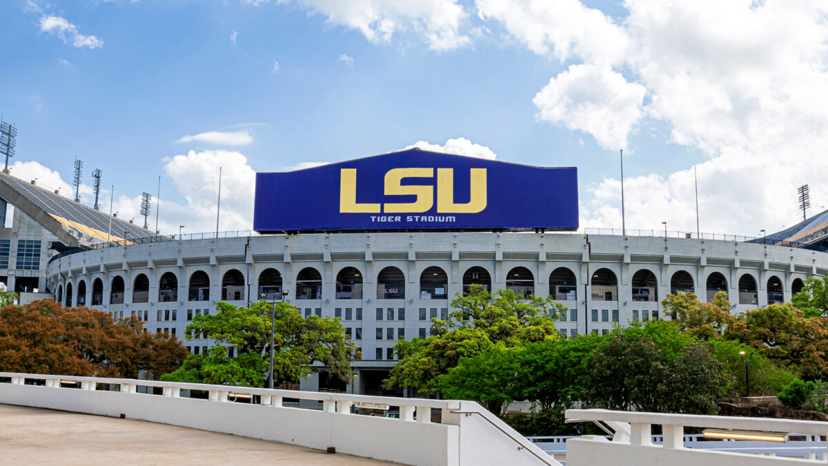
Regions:
[[727, 293], [720, 291], [711, 303], [701, 303], [695, 293], [667, 294], [662, 299], [664, 315], [672, 317], [678, 328], [701, 340], [719, 340], [724, 329], [733, 323], [733, 308]]

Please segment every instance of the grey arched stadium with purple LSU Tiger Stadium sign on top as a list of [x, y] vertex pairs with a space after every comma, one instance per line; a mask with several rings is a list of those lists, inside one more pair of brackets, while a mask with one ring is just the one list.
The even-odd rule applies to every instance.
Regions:
[[[363, 354], [354, 381], [314, 374], [301, 384], [311, 391], [383, 394], [395, 342], [425, 337], [471, 284], [551, 295], [567, 308], [556, 327], [575, 337], [661, 318], [668, 293], [705, 301], [724, 291], [744, 313], [828, 274], [828, 212], [758, 239], [578, 231], [575, 168], [418, 149], [258, 173], [250, 232], [154, 235], [8, 174], [0, 197], [14, 207], [0, 274], [22, 301], [136, 315], [149, 331], [180, 337], [218, 301], [285, 299], [306, 316], [341, 318]], [[32, 240], [39, 262], [20, 269]]]

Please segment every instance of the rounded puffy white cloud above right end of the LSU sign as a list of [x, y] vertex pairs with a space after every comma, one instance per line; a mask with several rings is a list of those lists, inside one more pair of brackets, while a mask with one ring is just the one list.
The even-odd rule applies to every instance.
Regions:
[[549, 80], [532, 103], [538, 119], [590, 133], [603, 148], [623, 149], [643, 116], [646, 92], [609, 66], [572, 65]]

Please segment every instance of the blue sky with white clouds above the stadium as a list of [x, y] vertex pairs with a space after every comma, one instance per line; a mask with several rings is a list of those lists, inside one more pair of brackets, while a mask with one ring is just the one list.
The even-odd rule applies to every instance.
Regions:
[[[580, 225], [759, 235], [828, 206], [824, 0], [8, 0], [12, 174], [165, 233], [255, 172], [408, 147], [578, 167]], [[114, 193], [112, 188], [114, 187]]]

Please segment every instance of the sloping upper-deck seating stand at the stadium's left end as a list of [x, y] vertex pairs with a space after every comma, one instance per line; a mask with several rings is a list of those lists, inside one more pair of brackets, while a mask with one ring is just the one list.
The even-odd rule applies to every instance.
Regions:
[[[0, 172], [0, 197], [39, 223], [64, 243], [77, 247], [105, 242], [110, 217], [55, 192]], [[140, 226], [112, 217], [113, 241], [152, 235]], [[60, 248], [57, 248], [60, 249]]]

